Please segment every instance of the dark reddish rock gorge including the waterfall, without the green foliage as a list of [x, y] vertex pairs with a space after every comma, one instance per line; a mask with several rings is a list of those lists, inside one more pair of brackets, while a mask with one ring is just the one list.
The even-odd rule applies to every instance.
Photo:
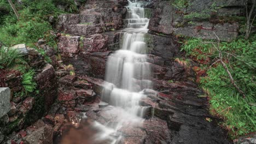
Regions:
[[[47, 19], [55, 30], [47, 34], [53, 35], [56, 48], [46, 38], [34, 43], [37, 49], [14, 46], [29, 59], [37, 91], [17, 97], [24, 90], [24, 76], [0, 69], [1, 144], [238, 141], [228, 137], [229, 125], [220, 127], [225, 117], [213, 116], [216, 111], [210, 109], [209, 92], [199, 85], [201, 77], [208, 75], [201, 64], [212, 61], [188, 56], [182, 48], [185, 39], [216, 40], [216, 35], [229, 43], [240, 33], [238, 22], [216, 22], [217, 12], [211, 12], [210, 20], [200, 15], [187, 21], [187, 14], [177, 10], [174, 1], [72, 3], [77, 7], [75, 13], [58, 13]], [[242, 15], [244, 8], [242, 0], [191, 3], [191, 8], [182, 9], [199, 13], [214, 5], [219, 17]], [[68, 9], [66, 5], [57, 8]], [[198, 49], [193, 52], [202, 53]]]

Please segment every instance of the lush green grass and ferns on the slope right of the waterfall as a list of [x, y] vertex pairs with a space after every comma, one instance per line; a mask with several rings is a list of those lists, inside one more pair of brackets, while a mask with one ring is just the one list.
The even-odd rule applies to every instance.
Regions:
[[214, 63], [218, 52], [211, 44], [213, 40], [189, 38], [182, 46], [182, 51], [193, 59], [210, 59], [210, 62], [201, 64], [202, 69], [207, 70], [207, 76], [201, 77], [200, 86], [210, 96], [211, 113], [223, 119], [220, 125], [229, 130], [231, 138], [256, 130], [255, 41], [256, 35], [252, 35], [248, 40], [239, 37], [231, 43], [219, 44], [225, 64], [237, 85], [246, 93], [245, 99], [232, 86], [222, 64]]

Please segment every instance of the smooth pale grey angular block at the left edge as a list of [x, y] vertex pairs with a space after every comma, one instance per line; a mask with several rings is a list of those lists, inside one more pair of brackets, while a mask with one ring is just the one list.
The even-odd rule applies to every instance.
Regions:
[[0, 87], [0, 118], [10, 111], [10, 88]]

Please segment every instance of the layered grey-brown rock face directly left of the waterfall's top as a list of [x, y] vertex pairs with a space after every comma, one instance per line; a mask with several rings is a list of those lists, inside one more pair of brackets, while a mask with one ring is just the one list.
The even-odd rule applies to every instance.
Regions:
[[73, 35], [91, 35], [122, 26], [123, 1], [88, 1], [79, 14], [62, 14], [56, 27]]

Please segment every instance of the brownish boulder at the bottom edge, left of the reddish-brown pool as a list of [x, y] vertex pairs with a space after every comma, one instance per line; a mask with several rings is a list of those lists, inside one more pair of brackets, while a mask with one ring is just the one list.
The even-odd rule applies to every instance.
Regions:
[[32, 131], [30, 135], [23, 137], [24, 144], [52, 144], [53, 143], [53, 128], [49, 125], [38, 128], [37, 130]]

